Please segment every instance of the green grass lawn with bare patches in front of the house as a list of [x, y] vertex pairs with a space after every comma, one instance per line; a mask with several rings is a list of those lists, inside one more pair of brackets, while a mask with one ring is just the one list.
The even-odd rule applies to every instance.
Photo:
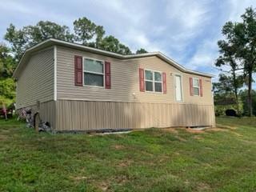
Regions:
[[0, 191], [256, 191], [256, 118], [217, 122], [52, 135], [0, 120]]

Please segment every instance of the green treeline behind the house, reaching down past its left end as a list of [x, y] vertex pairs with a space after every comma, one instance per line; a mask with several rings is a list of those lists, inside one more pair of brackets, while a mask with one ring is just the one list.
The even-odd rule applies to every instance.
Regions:
[[17, 29], [13, 24], [6, 30], [4, 39], [10, 47], [0, 43], [0, 108], [2, 103], [14, 102], [15, 85], [11, 78], [18, 61], [25, 50], [48, 38], [57, 38], [67, 42], [77, 42], [85, 46], [108, 50], [118, 54], [142, 54], [145, 49], [132, 53], [130, 48], [115, 38], [106, 35], [103, 26], [98, 26], [88, 18], [78, 18], [73, 22], [73, 33], [68, 26], [55, 22], [40, 21], [35, 26], [24, 26]]

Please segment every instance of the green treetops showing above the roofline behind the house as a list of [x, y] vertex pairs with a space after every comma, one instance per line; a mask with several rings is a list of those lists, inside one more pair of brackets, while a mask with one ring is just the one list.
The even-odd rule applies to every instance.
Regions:
[[[128, 46], [123, 45], [114, 36], [104, 36], [103, 26], [98, 26], [88, 18], [78, 18], [74, 21], [74, 34], [68, 26], [61, 26], [55, 22], [38, 22], [35, 26], [24, 26], [16, 29], [13, 24], [7, 28], [5, 39], [10, 42], [14, 58], [20, 60], [22, 54], [31, 46], [46, 40], [57, 38], [67, 42], [78, 42], [86, 46], [112, 51], [118, 54], [132, 54]], [[145, 52], [146, 50], [141, 49]]]

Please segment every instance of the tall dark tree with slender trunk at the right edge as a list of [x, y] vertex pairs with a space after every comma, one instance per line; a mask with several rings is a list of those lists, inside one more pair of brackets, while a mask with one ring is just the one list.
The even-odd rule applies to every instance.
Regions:
[[[231, 63], [231, 58], [236, 59], [242, 66], [244, 78], [248, 79], [248, 112], [252, 115], [252, 82], [253, 73], [256, 68], [256, 12], [250, 7], [246, 9], [246, 13], [241, 16], [242, 22], [226, 22], [223, 26], [222, 34], [226, 41], [222, 41], [221, 50], [224, 49], [223, 62]], [[228, 51], [229, 54], [226, 54]], [[237, 67], [238, 63], [234, 63]]]

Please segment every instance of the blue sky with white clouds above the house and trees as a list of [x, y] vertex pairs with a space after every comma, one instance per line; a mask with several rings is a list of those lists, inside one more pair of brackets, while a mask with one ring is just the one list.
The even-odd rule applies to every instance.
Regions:
[[48, 20], [73, 29], [86, 17], [104, 26], [135, 51], [161, 51], [190, 70], [214, 75], [217, 42], [227, 21], [241, 21], [256, 0], [0, 0], [0, 42], [6, 28], [35, 25]]

